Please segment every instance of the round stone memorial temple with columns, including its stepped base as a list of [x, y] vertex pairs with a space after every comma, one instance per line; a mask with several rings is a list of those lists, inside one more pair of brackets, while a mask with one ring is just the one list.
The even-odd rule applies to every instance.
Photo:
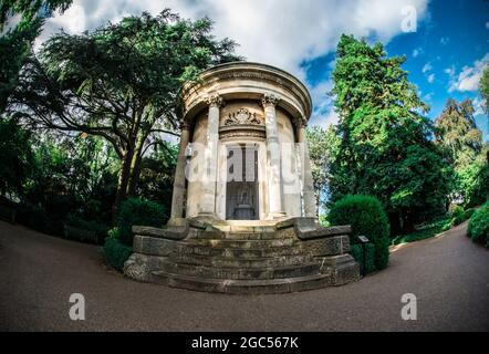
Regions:
[[310, 168], [306, 87], [270, 65], [211, 67], [179, 95], [171, 217], [135, 226], [124, 272], [225, 293], [284, 293], [358, 279], [348, 226], [323, 228]]

